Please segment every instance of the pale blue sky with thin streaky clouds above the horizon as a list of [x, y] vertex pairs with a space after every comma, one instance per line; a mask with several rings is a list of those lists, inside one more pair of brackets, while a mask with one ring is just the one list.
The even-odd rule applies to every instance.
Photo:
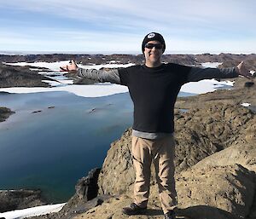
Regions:
[[0, 51], [256, 53], [254, 0], [0, 0]]

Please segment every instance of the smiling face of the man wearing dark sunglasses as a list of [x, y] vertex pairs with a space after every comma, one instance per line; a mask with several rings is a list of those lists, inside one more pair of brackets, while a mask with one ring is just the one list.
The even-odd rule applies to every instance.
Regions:
[[147, 66], [160, 64], [160, 57], [163, 54], [163, 45], [159, 41], [149, 41], [144, 50]]

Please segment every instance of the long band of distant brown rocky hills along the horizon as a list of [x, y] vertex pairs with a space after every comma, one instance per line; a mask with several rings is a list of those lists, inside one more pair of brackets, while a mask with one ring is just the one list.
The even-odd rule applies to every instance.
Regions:
[[[75, 60], [83, 65], [108, 64], [115, 61], [120, 64], [134, 63], [143, 64], [143, 55], [71, 55], [71, 54], [50, 54], [50, 55], [0, 55], [1, 62], [36, 62], [36, 61], [69, 61]], [[200, 66], [202, 62], [222, 62], [223, 66], [236, 66], [240, 61], [251, 70], [256, 71], [256, 55], [235, 55], [235, 54], [201, 54], [201, 55], [163, 55], [162, 61], [174, 62], [183, 65]]]

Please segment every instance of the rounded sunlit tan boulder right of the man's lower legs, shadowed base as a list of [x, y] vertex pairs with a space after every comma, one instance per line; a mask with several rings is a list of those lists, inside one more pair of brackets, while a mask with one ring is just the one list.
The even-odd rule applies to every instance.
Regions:
[[253, 205], [254, 178], [237, 164], [183, 171], [177, 176], [179, 208], [192, 218], [245, 218]]

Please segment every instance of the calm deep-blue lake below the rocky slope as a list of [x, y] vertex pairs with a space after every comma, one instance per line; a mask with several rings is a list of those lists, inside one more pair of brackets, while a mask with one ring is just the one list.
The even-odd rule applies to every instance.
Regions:
[[52, 203], [67, 201], [132, 124], [128, 93], [0, 93], [0, 106], [16, 112], [0, 123], [0, 189], [40, 188]]

